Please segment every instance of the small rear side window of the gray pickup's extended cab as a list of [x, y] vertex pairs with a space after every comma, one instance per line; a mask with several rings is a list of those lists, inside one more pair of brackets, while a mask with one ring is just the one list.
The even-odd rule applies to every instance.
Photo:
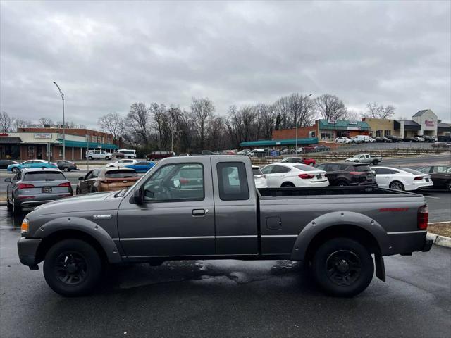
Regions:
[[249, 199], [245, 163], [223, 162], [216, 165], [219, 198], [223, 201]]

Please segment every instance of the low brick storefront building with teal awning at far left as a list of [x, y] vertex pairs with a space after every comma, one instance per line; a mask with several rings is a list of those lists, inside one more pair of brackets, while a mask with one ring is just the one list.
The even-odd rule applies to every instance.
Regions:
[[[37, 129], [34, 131], [25, 132], [10, 132], [0, 134], [0, 158], [8, 159], [45, 159], [56, 161], [63, 158], [63, 134], [59, 132], [50, 132], [50, 130], [57, 130], [58, 128], [23, 128], [23, 130]], [[39, 132], [44, 130], [44, 132]], [[112, 143], [98, 142], [102, 140], [112, 141], [109, 134], [93, 135], [99, 133], [95, 130], [89, 130], [89, 134], [83, 136], [76, 134], [68, 134], [66, 130], [66, 159], [80, 160], [85, 157], [87, 149], [102, 149], [106, 151], [114, 151], [118, 146]], [[86, 131], [86, 130], [84, 130]], [[80, 133], [80, 130], [77, 130]], [[89, 135], [89, 137], [87, 136]], [[93, 138], [95, 137], [95, 138]], [[102, 138], [103, 137], [103, 138]], [[89, 139], [89, 141], [87, 141]], [[95, 141], [92, 141], [94, 139]]]

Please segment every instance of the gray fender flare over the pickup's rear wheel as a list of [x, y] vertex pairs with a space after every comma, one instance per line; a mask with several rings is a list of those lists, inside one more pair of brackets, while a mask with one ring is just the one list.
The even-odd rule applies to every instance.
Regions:
[[293, 246], [291, 259], [293, 261], [304, 261], [307, 248], [316, 234], [328, 227], [335, 225], [354, 225], [367, 230], [378, 242], [381, 251], [388, 246], [387, 232], [381, 227], [376, 220], [369, 218], [362, 213], [354, 213], [351, 211], [334, 211], [326, 213], [312, 220], [297, 236], [295, 246]]

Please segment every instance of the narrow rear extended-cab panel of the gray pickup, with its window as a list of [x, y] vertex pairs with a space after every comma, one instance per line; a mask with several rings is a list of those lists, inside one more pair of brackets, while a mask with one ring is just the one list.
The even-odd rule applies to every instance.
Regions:
[[257, 193], [250, 160], [214, 157], [211, 158], [211, 172], [216, 255], [257, 255]]

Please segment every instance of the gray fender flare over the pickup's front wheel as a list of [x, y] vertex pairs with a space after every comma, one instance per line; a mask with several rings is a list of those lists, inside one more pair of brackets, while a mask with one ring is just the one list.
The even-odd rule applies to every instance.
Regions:
[[61, 230], [76, 230], [85, 232], [85, 234], [89, 234], [91, 237], [94, 237], [94, 239], [97, 240], [102, 249], [104, 249], [106, 258], [108, 259], [109, 263], [122, 262], [121, 254], [119, 253], [116, 244], [114, 243], [108, 232], [106, 232], [96, 223], [92, 222], [91, 220], [87, 220], [86, 218], [68, 216], [55, 218], [54, 220], [50, 220], [49, 222], [39, 227], [39, 229], [36, 230], [35, 234], [33, 234], [33, 237], [45, 239], [45, 237], [48, 237], [54, 232]]

